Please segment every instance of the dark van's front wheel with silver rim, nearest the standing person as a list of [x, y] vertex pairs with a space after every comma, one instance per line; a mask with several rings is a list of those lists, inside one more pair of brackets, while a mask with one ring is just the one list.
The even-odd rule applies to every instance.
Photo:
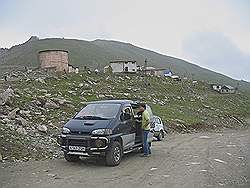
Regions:
[[108, 166], [117, 166], [122, 159], [122, 146], [120, 142], [115, 141], [106, 152], [106, 164]]

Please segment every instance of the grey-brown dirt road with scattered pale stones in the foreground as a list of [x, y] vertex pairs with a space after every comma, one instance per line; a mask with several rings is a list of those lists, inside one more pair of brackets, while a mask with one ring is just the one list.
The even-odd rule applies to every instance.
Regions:
[[150, 158], [117, 167], [95, 159], [0, 164], [0, 187], [250, 187], [250, 130], [171, 135]]

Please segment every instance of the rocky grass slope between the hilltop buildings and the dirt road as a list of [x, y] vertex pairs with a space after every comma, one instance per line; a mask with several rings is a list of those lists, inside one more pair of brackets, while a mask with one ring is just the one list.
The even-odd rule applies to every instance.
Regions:
[[92, 100], [145, 101], [169, 133], [220, 131], [248, 126], [250, 95], [221, 95], [200, 81], [91, 72], [58, 75], [13, 72], [0, 81], [0, 161], [57, 158], [57, 135]]

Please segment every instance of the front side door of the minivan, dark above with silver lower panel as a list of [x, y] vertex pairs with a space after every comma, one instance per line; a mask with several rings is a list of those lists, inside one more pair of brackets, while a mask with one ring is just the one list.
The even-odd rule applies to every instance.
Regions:
[[130, 149], [135, 145], [135, 121], [131, 106], [124, 106], [122, 109], [120, 130], [123, 133], [121, 136], [123, 149]]

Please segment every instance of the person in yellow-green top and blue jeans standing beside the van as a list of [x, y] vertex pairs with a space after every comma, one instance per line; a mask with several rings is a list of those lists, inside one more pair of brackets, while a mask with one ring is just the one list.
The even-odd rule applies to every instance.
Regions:
[[150, 117], [146, 110], [146, 104], [139, 105], [139, 112], [142, 113], [142, 131], [143, 131], [143, 152], [142, 157], [147, 157], [151, 154], [151, 149], [148, 143], [148, 133], [150, 131]]

